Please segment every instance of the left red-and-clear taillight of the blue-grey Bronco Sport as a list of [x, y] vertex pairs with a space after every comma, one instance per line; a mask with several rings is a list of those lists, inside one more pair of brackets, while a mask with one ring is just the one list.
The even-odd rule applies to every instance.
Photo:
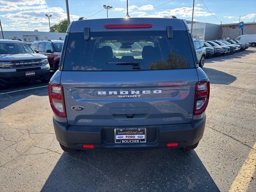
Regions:
[[59, 117], [66, 117], [63, 87], [60, 84], [49, 83], [48, 91], [53, 112]]

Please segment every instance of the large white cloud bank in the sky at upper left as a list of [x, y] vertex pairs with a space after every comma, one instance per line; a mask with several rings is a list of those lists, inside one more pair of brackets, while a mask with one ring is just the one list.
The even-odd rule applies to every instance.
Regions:
[[[45, 14], [52, 15], [50, 17], [51, 26], [60, 20], [67, 18], [66, 12], [61, 7], [48, 7], [44, 0], [0, 0], [1, 6], [11, 7], [6, 14], [1, 13], [1, 17], [8, 22], [7, 30], [30, 30], [49, 31], [48, 18]], [[3, 11], [1, 7], [1, 11]], [[6, 7], [4, 7], [6, 8]], [[77, 20], [79, 16], [70, 14], [70, 20]]]

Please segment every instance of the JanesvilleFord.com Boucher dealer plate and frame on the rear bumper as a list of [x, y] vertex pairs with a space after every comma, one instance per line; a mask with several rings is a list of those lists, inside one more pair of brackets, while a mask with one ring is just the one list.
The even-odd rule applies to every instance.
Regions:
[[[129, 132], [130, 131], [130, 132]], [[147, 129], [146, 128], [115, 128], [114, 140], [116, 144], [139, 144], [147, 142]], [[124, 138], [117, 138], [123, 136]], [[130, 138], [125, 138], [131, 136]], [[139, 138], [138, 136], [141, 136]]]

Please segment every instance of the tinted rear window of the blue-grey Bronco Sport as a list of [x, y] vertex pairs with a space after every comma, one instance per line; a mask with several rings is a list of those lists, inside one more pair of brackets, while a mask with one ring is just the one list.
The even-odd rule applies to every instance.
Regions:
[[63, 70], [163, 70], [194, 67], [186, 31], [70, 33]]

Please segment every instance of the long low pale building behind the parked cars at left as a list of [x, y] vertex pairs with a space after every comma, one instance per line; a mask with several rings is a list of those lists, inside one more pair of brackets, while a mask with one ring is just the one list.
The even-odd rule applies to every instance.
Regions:
[[[3, 31], [5, 39], [19, 38], [25, 42], [34, 42], [42, 39], [64, 40], [66, 33], [39, 32], [39, 31]], [[0, 33], [2, 38], [2, 33]]]

